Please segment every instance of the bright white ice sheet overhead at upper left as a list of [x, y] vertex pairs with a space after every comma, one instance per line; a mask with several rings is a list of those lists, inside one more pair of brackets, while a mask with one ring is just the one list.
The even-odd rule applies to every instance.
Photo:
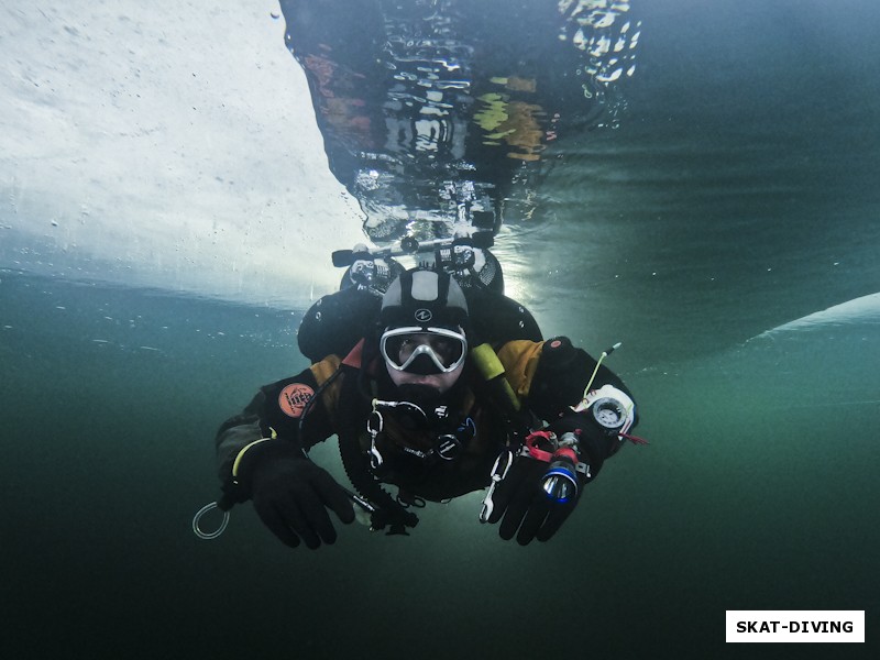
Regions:
[[337, 285], [360, 210], [284, 23], [205, 9], [0, 9], [0, 267], [258, 301]]

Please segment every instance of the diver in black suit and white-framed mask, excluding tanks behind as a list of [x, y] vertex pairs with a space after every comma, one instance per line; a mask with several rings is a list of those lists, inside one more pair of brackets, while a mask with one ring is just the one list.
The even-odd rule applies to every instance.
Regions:
[[[229, 510], [253, 502], [287, 546], [333, 543], [330, 516], [407, 534], [414, 509], [485, 490], [479, 519], [547, 541], [636, 425], [624, 383], [564, 337], [484, 341], [457, 280], [404, 271], [348, 354], [262, 387], [217, 435]], [[308, 457], [338, 436], [354, 490]], [[389, 490], [389, 488], [393, 488]], [[394, 492], [394, 495], [392, 494]]]

